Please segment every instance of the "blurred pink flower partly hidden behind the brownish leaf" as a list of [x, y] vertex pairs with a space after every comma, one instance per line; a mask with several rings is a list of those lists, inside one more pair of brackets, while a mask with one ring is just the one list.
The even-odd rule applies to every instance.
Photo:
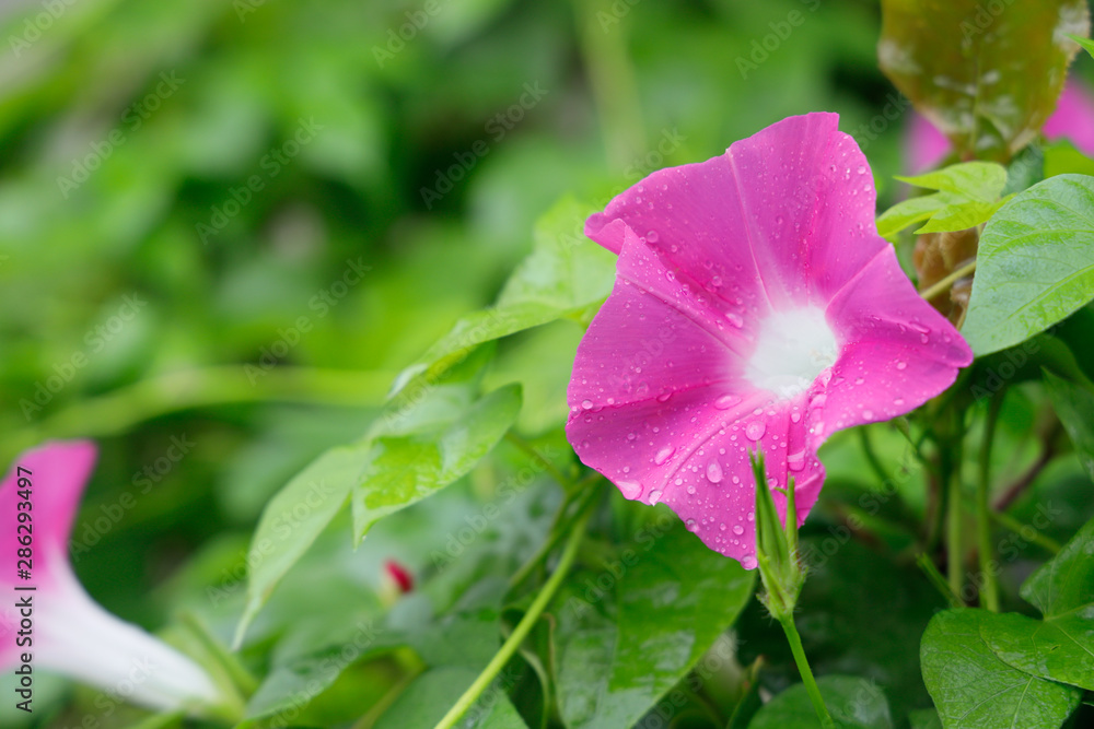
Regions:
[[[1041, 131], [1049, 141], [1067, 139], [1086, 156], [1094, 156], [1094, 96], [1085, 84], [1079, 81], [1068, 82], [1056, 105], [1056, 111], [1045, 122]], [[939, 166], [951, 151], [946, 136], [918, 114], [912, 114], [905, 148], [913, 175]]]

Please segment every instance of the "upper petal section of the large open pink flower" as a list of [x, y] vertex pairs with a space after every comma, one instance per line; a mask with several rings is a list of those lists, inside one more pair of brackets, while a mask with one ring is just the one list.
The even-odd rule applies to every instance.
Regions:
[[870, 165], [838, 121], [790, 117], [721, 156], [655, 172], [585, 233], [618, 252], [631, 228], [746, 316], [827, 302], [884, 245]]

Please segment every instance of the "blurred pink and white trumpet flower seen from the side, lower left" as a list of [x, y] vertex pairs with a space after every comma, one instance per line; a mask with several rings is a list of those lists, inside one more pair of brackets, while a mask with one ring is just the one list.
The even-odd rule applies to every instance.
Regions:
[[106, 612], [72, 573], [69, 532], [94, 462], [91, 443], [50, 443], [20, 456], [0, 485], [0, 670], [18, 680], [55, 671], [154, 709], [218, 705], [202, 669]]

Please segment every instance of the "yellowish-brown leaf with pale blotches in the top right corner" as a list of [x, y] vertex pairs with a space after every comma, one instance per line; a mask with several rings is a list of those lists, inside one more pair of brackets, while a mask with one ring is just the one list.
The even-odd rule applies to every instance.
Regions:
[[[1085, 0], [883, 0], [882, 70], [959, 158], [1005, 161], [1056, 107]], [[1015, 59], [1022, 59], [1015, 62]]]

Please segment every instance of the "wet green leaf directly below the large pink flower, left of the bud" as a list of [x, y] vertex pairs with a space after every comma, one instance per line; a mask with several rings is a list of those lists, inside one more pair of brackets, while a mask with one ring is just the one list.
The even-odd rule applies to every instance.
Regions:
[[571, 729], [630, 729], [752, 596], [754, 573], [662, 524], [643, 527], [604, 572], [578, 573], [557, 599], [558, 705]]

